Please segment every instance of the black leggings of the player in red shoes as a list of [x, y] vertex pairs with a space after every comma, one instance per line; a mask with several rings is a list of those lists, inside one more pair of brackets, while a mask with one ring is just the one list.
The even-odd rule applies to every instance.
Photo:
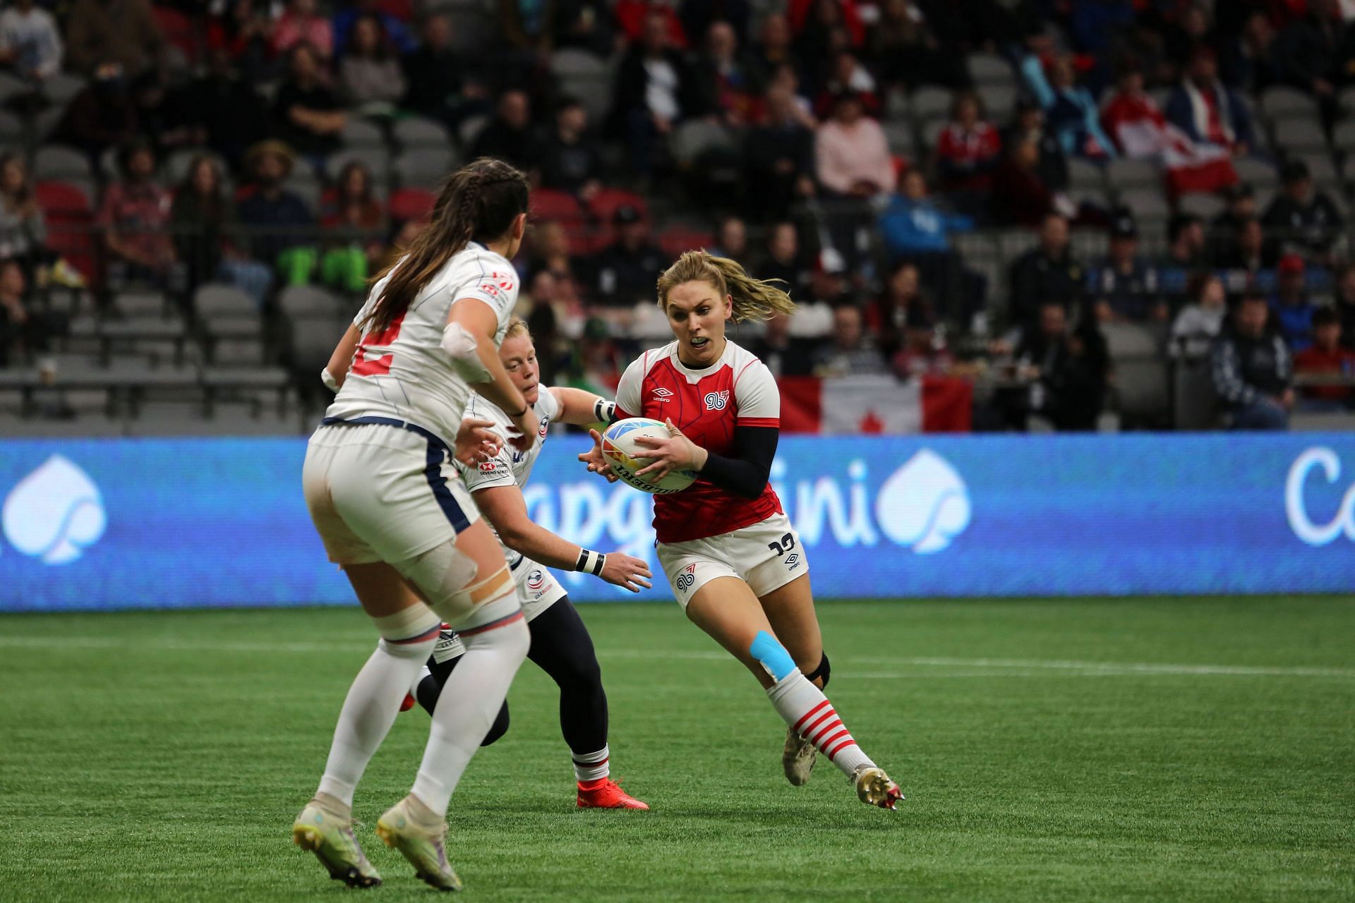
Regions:
[[[569, 750], [577, 755], [596, 753], [607, 745], [607, 693], [602, 689], [602, 667], [593, 651], [592, 636], [579, 617], [569, 597], [543, 611], [531, 624], [531, 647], [527, 658], [560, 685], [560, 730]], [[430, 715], [438, 705], [447, 676], [461, 657], [435, 662], [428, 659], [428, 677], [419, 682], [419, 704]], [[508, 701], [481, 741], [489, 746], [508, 732]]]

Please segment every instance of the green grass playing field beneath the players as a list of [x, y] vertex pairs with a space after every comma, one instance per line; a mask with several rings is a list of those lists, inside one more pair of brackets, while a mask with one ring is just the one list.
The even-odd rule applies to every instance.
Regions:
[[[453, 797], [466, 899], [1355, 899], [1355, 598], [821, 604], [897, 814], [827, 762], [790, 787], [782, 722], [676, 605], [581, 611], [653, 811], [575, 810], [524, 665]], [[428, 899], [371, 833], [421, 711], [355, 806], [382, 888], [289, 842], [371, 643], [347, 609], [0, 617], [0, 899]]]

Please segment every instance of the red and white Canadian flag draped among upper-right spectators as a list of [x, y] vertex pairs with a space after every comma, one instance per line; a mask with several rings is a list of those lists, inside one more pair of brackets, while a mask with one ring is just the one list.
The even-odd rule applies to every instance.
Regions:
[[1172, 198], [1192, 191], [1215, 192], [1237, 181], [1228, 148], [1192, 141], [1167, 122], [1148, 95], [1115, 95], [1102, 111], [1102, 123], [1126, 157], [1163, 164]]

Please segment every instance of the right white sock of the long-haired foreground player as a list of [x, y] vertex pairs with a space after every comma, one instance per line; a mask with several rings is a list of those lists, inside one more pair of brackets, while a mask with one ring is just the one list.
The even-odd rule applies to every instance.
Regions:
[[[516, 601], [516, 588], [508, 598]], [[438, 697], [428, 746], [412, 791], [439, 818], [447, 814], [451, 792], [495, 723], [508, 696], [508, 685], [531, 646], [520, 611], [509, 620], [463, 631], [461, 639], [466, 654]]]

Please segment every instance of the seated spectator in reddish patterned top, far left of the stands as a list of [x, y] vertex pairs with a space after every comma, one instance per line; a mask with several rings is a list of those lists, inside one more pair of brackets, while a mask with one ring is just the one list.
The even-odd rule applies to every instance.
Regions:
[[152, 180], [154, 150], [145, 141], [123, 146], [118, 152], [118, 171], [122, 179], [103, 192], [95, 218], [104, 230], [110, 282], [137, 279], [161, 288], [182, 288], [173, 284], [178, 253], [169, 237], [172, 200]]

